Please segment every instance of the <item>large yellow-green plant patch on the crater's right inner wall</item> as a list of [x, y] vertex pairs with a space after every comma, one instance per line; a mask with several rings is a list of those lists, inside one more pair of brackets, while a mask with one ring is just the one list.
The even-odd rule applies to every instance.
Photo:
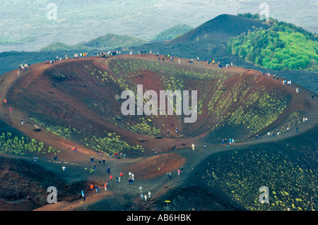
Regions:
[[254, 87], [257, 83], [256, 76], [237, 78], [232, 88], [222, 80], [216, 81], [208, 100], [208, 112], [215, 121], [211, 130], [227, 123], [246, 129], [248, 136], [276, 121], [287, 108], [287, 97], [279, 92], [267, 92], [264, 86]]

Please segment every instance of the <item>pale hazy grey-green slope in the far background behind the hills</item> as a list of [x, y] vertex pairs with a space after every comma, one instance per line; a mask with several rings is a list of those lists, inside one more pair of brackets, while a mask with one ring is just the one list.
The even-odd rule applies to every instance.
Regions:
[[[0, 51], [37, 51], [52, 42], [78, 44], [107, 33], [150, 39], [174, 25], [192, 28], [222, 13], [261, 13], [317, 32], [317, 1], [56, 0], [0, 1]], [[261, 4], [266, 7], [260, 8]], [[268, 9], [268, 10], [267, 10]]]

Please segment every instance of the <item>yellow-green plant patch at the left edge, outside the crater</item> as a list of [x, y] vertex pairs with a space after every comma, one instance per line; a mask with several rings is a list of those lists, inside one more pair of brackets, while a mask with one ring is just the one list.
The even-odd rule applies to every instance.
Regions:
[[0, 136], [0, 152], [23, 155], [35, 152], [41, 152], [42, 154], [54, 152], [58, 154], [60, 151], [51, 146], [47, 149], [43, 142], [37, 142], [35, 139], [13, 136], [12, 133], [2, 133]]

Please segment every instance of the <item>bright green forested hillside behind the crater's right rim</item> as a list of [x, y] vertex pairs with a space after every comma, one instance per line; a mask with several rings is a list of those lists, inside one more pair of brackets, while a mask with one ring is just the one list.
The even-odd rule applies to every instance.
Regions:
[[269, 29], [255, 28], [231, 38], [228, 50], [250, 63], [276, 71], [318, 71], [317, 34], [278, 20], [265, 23], [270, 25]]

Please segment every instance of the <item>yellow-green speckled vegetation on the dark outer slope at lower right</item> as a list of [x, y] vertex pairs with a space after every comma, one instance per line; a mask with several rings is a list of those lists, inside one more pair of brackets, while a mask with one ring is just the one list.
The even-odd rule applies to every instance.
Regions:
[[[317, 198], [317, 170], [279, 150], [228, 152], [211, 158], [204, 178], [251, 211], [305, 210]], [[269, 204], [259, 202], [259, 188], [269, 188]]]

